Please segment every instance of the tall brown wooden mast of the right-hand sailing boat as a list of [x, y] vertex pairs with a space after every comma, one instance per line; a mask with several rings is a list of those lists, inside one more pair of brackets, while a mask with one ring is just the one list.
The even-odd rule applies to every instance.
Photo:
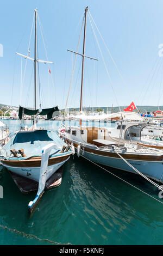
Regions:
[[[82, 60], [82, 83], [80, 92], [80, 111], [83, 109], [83, 80], [84, 80], [84, 59], [85, 59], [85, 39], [86, 39], [86, 18], [87, 18], [88, 7], [85, 8], [85, 22], [84, 22], [84, 38], [83, 38], [83, 60]], [[80, 120], [80, 126], [82, 125], [82, 120]]]

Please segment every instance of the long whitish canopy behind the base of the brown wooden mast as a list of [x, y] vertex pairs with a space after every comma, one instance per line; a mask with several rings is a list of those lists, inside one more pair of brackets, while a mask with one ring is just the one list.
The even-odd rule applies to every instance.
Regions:
[[112, 114], [103, 114], [103, 115], [71, 115], [74, 119], [80, 120], [107, 120], [107, 119], [122, 119], [123, 120], [143, 120], [140, 114], [130, 111], [118, 112]]

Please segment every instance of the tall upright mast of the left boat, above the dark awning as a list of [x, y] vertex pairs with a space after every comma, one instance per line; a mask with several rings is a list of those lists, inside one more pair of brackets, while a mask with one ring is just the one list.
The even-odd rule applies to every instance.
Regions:
[[37, 109], [37, 8], [35, 11], [34, 109]]

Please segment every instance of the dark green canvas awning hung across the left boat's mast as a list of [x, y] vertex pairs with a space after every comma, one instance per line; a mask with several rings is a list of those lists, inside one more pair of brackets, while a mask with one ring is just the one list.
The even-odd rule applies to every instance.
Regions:
[[51, 119], [52, 117], [56, 117], [56, 115], [59, 115], [59, 109], [57, 107], [52, 108], [43, 108], [42, 111], [39, 113], [39, 109], [32, 110], [24, 107], [19, 107], [18, 109], [18, 117], [19, 119], [22, 119], [23, 114], [25, 115], [47, 115], [47, 119]]

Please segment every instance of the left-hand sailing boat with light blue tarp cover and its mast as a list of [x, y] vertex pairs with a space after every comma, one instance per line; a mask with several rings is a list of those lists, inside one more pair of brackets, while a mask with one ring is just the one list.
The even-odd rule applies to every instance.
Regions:
[[[18, 116], [22, 119], [24, 114], [34, 115], [34, 125], [21, 127], [1, 152], [1, 162], [11, 173], [39, 182], [36, 198], [28, 205], [32, 211], [37, 200], [41, 197], [46, 181], [70, 158], [70, 147], [58, 138], [53, 131], [37, 129], [36, 115], [47, 115], [47, 119], [59, 114], [58, 107], [37, 109], [37, 9], [35, 11], [35, 57], [34, 61], [34, 109], [20, 106]], [[42, 62], [42, 60], [41, 60]], [[43, 60], [44, 63], [49, 63]]]

